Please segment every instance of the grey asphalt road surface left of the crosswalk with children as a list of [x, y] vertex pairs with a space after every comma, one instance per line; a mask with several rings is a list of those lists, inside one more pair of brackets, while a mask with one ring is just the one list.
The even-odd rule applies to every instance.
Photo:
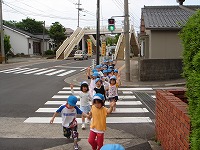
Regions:
[[[81, 62], [81, 63], [80, 63]], [[91, 60], [63, 60], [36, 63], [21, 68], [76, 70], [66, 76], [0, 73], [0, 117], [28, 117], [39, 106], [66, 86], [64, 79], [91, 65]], [[70, 68], [69, 68], [70, 67]], [[77, 68], [81, 67], [81, 68]]]

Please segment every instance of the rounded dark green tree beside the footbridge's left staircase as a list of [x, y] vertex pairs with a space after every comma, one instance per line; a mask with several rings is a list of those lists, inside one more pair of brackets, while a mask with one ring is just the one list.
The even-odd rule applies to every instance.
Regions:
[[54, 39], [54, 42], [58, 47], [66, 39], [64, 26], [59, 22], [52, 23], [49, 29], [49, 35]]

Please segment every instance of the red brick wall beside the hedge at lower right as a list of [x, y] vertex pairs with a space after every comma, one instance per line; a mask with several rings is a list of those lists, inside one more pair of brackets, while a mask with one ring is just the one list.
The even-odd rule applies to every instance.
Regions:
[[184, 90], [156, 91], [156, 138], [164, 150], [189, 149], [190, 118], [184, 94]]

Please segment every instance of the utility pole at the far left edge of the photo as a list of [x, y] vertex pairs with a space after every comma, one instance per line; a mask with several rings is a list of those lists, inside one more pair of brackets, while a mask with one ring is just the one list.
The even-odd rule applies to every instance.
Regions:
[[0, 28], [1, 28], [1, 56], [2, 63], [5, 63], [5, 51], [4, 51], [4, 31], [3, 31], [3, 10], [2, 10], [2, 0], [0, 0]]

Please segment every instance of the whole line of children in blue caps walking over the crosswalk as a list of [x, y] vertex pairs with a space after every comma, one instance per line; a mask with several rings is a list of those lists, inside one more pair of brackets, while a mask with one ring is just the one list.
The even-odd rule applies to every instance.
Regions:
[[[100, 150], [103, 147], [106, 116], [112, 111], [116, 111], [117, 90], [121, 84], [120, 74], [117, 69], [114, 69], [114, 66], [113, 61], [105, 60], [104, 64], [97, 65], [92, 70], [92, 75], [91, 69], [88, 67], [86, 74], [91, 80], [90, 84], [86, 81], [82, 82], [80, 92], [74, 92], [74, 86], [70, 84], [72, 95], [68, 97], [65, 105], [58, 108], [50, 120], [50, 123], [53, 123], [57, 114], [61, 114], [64, 136], [69, 138], [72, 135], [75, 150], [79, 149], [77, 114], [82, 114], [82, 129], [86, 127], [85, 118], [87, 118], [87, 122], [91, 120], [88, 142], [92, 146], [92, 150]], [[75, 95], [80, 97], [80, 108], [76, 106], [78, 99]], [[109, 108], [105, 107], [106, 100], [110, 102]], [[90, 101], [92, 101], [92, 106], [90, 106]]]

